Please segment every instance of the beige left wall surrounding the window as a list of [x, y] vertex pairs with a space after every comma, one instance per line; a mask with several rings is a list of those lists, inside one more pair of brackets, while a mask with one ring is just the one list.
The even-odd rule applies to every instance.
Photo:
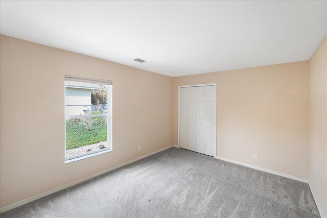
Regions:
[[[172, 144], [171, 77], [3, 35], [0, 47], [1, 208]], [[113, 81], [112, 152], [64, 163], [65, 74]]]

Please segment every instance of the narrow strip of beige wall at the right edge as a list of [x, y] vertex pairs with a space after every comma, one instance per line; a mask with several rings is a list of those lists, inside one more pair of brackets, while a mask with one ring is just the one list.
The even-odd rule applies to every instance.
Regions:
[[327, 217], [327, 37], [310, 65], [310, 183]]

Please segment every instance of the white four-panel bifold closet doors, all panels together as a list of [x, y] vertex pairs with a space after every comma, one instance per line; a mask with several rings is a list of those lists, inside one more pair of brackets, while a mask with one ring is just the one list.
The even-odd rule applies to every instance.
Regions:
[[179, 147], [216, 156], [216, 86], [179, 87]]

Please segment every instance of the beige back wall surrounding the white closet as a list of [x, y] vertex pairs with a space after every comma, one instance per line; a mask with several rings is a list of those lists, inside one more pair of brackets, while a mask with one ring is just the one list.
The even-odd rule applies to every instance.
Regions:
[[174, 78], [174, 144], [178, 86], [203, 83], [217, 83], [217, 156], [309, 179], [308, 61]]

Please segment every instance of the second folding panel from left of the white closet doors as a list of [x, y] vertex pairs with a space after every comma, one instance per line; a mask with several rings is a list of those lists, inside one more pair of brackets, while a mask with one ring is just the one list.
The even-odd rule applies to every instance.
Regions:
[[188, 115], [188, 149], [195, 151], [195, 129], [196, 129], [196, 120], [195, 120], [195, 110], [196, 110], [196, 87], [188, 87], [188, 108], [186, 113]]

